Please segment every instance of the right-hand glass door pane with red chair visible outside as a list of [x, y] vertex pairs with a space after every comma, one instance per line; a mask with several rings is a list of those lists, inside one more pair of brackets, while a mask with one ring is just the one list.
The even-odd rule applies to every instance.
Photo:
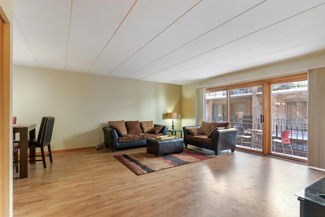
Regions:
[[271, 152], [307, 159], [308, 81], [271, 84]]

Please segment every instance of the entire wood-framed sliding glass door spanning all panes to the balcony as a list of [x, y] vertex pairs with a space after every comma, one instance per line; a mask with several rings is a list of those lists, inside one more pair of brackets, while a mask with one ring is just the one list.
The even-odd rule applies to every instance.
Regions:
[[206, 89], [206, 121], [237, 128], [237, 148], [307, 161], [307, 74]]

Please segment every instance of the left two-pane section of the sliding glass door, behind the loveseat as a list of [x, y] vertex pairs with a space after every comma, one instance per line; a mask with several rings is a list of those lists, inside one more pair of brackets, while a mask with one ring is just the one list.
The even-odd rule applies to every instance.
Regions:
[[263, 151], [263, 86], [206, 92], [206, 121], [228, 121], [238, 130], [237, 147]]

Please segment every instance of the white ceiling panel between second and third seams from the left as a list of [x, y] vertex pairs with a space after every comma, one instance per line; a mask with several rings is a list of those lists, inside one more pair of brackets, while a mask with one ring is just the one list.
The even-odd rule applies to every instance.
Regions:
[[66, 70], [88, 72], [134, 2], [135, 0], [74, 1]]

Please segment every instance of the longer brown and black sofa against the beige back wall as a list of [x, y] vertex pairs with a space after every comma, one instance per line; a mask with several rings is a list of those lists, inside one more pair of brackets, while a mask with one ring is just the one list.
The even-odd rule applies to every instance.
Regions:
[[110, 126], [103, 128], [105, 147], [112, 152], [120, 148], [145, 146], [148, 138], [167, 135], [167, 126], [154, 124], [153, 121], [109, 121]]

